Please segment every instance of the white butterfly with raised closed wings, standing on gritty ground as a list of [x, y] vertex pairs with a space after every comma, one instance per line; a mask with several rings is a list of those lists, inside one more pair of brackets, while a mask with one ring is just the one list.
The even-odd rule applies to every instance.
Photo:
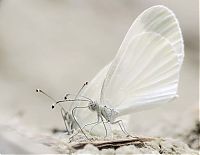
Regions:
[[[177, 96], [183, 58], [183, 38], [174, 13], [164, 6], [153, 6], [137, 17], [117, 55], [81, 96], [109, 108], [113, 122], [119, 116], [166, 103]], [[76, 117], [81, 125], [96, 120], [95, 113], [83, 109]]]

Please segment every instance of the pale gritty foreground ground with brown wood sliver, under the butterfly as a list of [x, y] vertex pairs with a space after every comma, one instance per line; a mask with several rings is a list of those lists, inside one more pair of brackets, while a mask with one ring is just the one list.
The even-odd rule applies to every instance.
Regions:
[[139, 135], [135, 138], [126, 137], [119, 131], [114, 131], [113, 136], [107, 138], [91, 136], [85, 131], [92, 140], [87, 140], [82, 133], [78, 133], [70, 142], [70, 136], [65, 133], [33, 131], [20, 122], [1, 124], [0, 130], [0, 136], [8, 141], [8, 144], [4, 144], [9, 150], [8, 152], [5, 148], [1, 150], [2, 153], [198, 154], [197, 150], [179, 140]]

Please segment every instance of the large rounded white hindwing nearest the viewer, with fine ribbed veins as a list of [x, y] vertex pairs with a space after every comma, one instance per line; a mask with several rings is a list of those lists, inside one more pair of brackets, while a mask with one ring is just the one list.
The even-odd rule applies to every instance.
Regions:
[[104, 104], [123, 115], [169, 101], [177, 93], [179, 68], [178, 56], [167, 39], [153, 32], [135, 36], [109, 68]]

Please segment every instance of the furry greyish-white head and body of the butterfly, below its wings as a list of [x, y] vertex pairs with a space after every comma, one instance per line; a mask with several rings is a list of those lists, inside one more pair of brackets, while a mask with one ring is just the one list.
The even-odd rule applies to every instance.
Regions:
[[88, 106], [91, 111], [97, 112], [98, 117], [103, 117], [110, 123], [113, 123], [119, 115], [115, 109], [99, 105], [97, 102], [90, 102]]

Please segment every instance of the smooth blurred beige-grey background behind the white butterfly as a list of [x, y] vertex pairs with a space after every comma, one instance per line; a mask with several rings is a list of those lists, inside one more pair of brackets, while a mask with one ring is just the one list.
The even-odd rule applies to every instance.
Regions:
[[19, 117], [30, 129], [64, 128], [59, 108], [36, 94], [61, 99], [115, 56], [134, 19], [153, 5], [177, 16], [185, 42], [179, 98], [131, 115], [129, 131], [177, 137], [199, 118], [198, 0], [1, 0], [0, 123]]

